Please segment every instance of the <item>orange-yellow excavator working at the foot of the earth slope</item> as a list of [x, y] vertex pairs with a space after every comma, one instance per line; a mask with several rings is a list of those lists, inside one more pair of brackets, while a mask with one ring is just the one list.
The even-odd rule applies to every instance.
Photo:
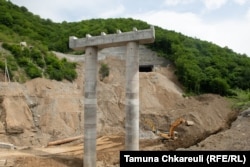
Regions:
[[154, 123], [149, 120], [149, 119], [145, 119], [145, 123], [150, 126], [151, 130], [153, 133], [155, 133], [156, 135], [160, 136], [163, 140], [175, 140], [176, 139], [176, 136], [175, 136], [175, 128], [179, 125], [181, 125], [182, 123], [185, 123], [186, 120], [182, 117], [176, 119], [170, 126], [170, 129], [169, 129], [169, 133], [163, 133], [163, 132], [160, 132], [159, 130], [157, 130], [155, 128], [155, 125]]

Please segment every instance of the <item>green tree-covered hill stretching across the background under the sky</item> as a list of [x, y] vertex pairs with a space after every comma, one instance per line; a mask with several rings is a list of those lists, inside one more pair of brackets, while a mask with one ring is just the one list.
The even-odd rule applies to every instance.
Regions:
[[[126, 32], [131, 31], [133, 27], [147, 29], [150, 25], [132, 18], [53, 23], [49, 19], [42, 19], [30, 13], [25, 7], [18, 7], [9, 1], [0, 0], [0, 42], [26, 41], [43, 53], [43, 56], [52, 50], [72, 52], [68, 48], [69, 36], [85, 37], [88, 33], [94, 36], [100, 35], [101, 32], [109, 34], [115, 33], [117, 29]], [[160, 27], [155, 27], [155, 29], [156, 41], [148, 46], [157, 51], [159, 56], [175, 64], [176, 75], [188, 92], [230, 95], [234, 89], [248, 90], [250, 88], [250, 58], [246, 54], [238, 54], [228, 47], [222, 48], [211, 42]], [[42, 63], [44, 66], [41, 67], [36, 59], [29, 58], [29, 60], [35, 62], [38, 69], [47, 71], [45, 73], [49, 78], [53, 78], [50, 77], [49, 71], [55, 75], [63, 66], [49, 64], [45, 59]], [[53, 60], [56, 62], [56, 58]], [[23, 67], [18, 61], [20, 60], [17, 60], [17, 66]], [[68, 66], [71, 67], [65, 65], [64, 69]], [[59, 77], [59, 79], [62, 78]]]

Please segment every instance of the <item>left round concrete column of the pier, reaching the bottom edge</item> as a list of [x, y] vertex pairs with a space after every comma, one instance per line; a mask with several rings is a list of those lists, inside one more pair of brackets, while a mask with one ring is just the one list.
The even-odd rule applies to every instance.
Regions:
[[96, 166], [97, 47], [85, 50], [84, 167]]

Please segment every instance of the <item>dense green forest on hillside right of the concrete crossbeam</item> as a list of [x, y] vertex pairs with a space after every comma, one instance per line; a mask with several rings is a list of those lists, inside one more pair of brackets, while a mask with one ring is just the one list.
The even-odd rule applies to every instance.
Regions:
[[187, 91], [232, 94], [231, 89], [250, 88], [250, 58], [228, 47], [157, 28], [151, 46], [176, 65], [176, 74]]

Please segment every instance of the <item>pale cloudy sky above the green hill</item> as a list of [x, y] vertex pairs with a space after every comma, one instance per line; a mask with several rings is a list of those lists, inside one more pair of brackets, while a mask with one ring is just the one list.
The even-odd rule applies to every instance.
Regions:
[[54, 22], [117, 17], [140, 19], [250, 56], [250, 0], [10, 1]]

